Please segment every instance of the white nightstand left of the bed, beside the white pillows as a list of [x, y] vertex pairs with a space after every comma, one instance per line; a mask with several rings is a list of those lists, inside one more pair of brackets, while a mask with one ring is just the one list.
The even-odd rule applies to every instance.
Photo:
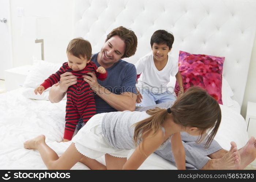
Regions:
[[4, 71], [5, 90], [22, 87], [32, 65], [20, 66]]

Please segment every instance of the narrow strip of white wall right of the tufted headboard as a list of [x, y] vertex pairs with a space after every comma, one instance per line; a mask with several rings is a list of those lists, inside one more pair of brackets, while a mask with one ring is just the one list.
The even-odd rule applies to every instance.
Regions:
[[244, 93], [244, 100], [241, 108], [241, 114], [244, 118], [246, 117], [247, 102], [256, 102], [256, 36], [252, 50], [252, 57]]

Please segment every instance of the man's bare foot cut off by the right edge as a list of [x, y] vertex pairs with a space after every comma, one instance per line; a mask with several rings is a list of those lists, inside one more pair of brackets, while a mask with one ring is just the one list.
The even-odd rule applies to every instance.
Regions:
[[241, 155], [241, 169], [244, 169], [256, 158], [256, 140], [251, 137], [246, 145], [239, 150]]

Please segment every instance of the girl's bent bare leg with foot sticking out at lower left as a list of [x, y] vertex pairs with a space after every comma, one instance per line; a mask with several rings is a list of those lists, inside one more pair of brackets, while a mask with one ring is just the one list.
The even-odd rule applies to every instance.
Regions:
[[44, 135], [24, 142], [24, 148], [38, 150], [48, 169], [71, 169], [83, 157], [72, 143], [59, 158], [57, 153], [45, 143]]

